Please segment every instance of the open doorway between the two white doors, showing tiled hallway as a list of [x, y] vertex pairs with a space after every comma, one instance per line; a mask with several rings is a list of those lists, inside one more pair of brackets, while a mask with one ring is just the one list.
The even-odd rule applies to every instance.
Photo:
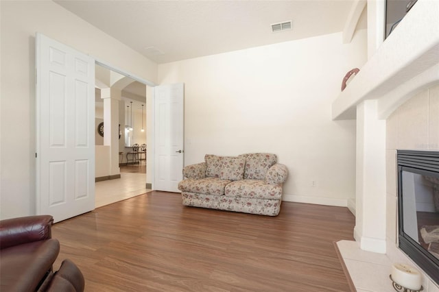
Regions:
[[[119, 202], [150, 191], [146, 188], [146, 90], [147, 84], [134, 80], [128, 74], [115, 71], [110, 66], [95, 64], [95, 147], [96, 182], [95, 208]], [[117, 175], [106, 176], [108, 159], [106, 152], [110, 145], [104, 145], [104, 134], [99, 133], [99, 125], [104, 123], [104, 115], [114, 111], [104, 110], [104, 99], [99, 92], [110, 88], [110, 95], [118, 99], [117, 119], [119, 123], [119, 153]], [[112, 102], [114, 105], [115, 102]], [[112, 123], [113, 125], [114, 123]], [[108, 143], [107, 143], [108, 144]], [[133, 154], [133, 147], [139, 145]], [[140, 147], [142, 145], [142, 147]], [[99, 153], [98, 153], [99, 152]], [[114, 157], [114, 156], [113, 156]], [[100, 173], [99, 173], [100, 171]], [[114, 171], [113, 171], [114, 172]], [[99, 176], [102, 175], [102, 176]], [[102, 179], [104, 178], [104, 179]], [[106, 179], [110, 178], [110, 179]]]

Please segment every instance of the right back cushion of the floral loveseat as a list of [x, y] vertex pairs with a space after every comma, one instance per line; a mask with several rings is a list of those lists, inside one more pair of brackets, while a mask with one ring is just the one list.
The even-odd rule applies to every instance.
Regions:
[[238, 157], [246, 159], [246, 168], [244, 170], [244, 179], [265, 180], [265, 174], [268, 169], [276, 164], [276, 154], [269, 153], [250, 153], [241, 154]]

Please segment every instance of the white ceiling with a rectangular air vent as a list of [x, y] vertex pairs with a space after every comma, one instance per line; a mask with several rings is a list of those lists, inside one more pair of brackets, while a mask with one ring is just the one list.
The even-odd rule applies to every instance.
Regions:
[[[342, 32], [355, 2], [54, 1], [159, 64]], [[272, 33], [283, 21], [293, 29]]]

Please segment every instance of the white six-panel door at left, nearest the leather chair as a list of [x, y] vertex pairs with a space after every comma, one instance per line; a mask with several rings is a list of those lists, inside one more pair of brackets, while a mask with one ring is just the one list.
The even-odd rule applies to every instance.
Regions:
[[36, 35], [36, 213], [95, 208], [95, 60]]

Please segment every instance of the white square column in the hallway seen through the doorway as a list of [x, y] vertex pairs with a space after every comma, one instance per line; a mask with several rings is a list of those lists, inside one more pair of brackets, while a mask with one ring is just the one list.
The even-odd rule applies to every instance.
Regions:
[[110, 88], [101, 89], [104, 99], [104, 145], [110, 146], [110, 175], [119, 175], [119, 95]]

